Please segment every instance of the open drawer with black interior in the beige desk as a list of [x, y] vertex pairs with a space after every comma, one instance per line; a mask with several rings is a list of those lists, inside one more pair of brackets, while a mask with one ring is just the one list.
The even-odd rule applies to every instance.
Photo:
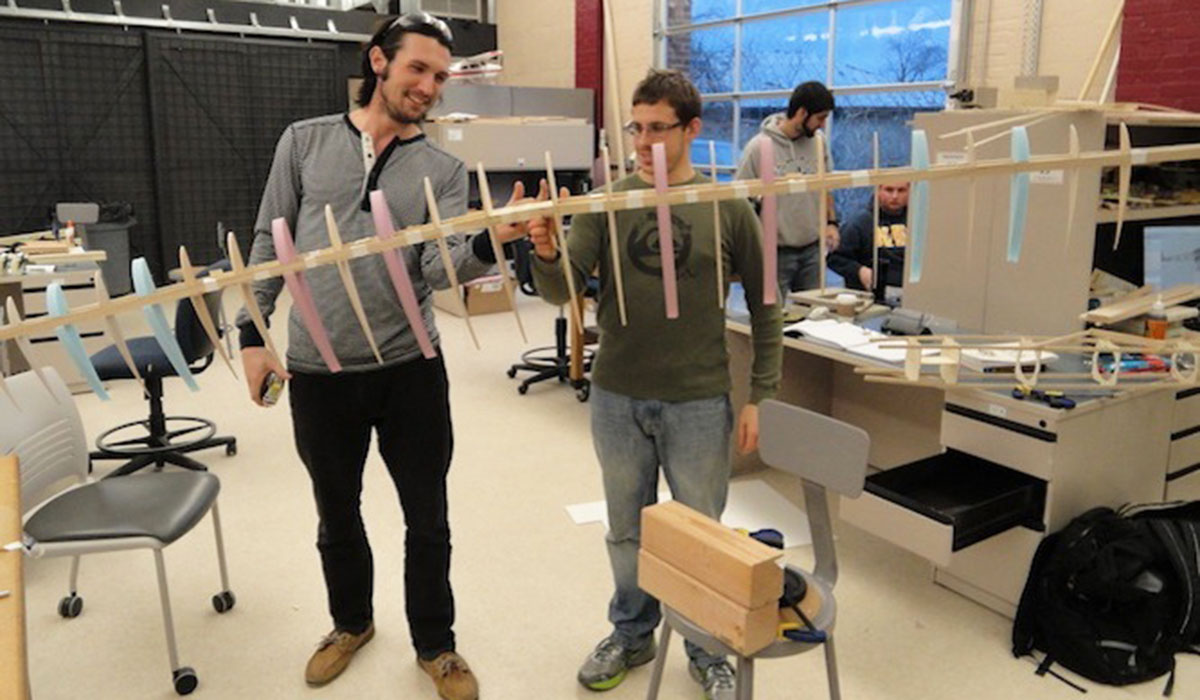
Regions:
[[868, 477], [841, 519], [940, 566], [1018, 526], [1043, 528], [1046, 483], [949, 449]]

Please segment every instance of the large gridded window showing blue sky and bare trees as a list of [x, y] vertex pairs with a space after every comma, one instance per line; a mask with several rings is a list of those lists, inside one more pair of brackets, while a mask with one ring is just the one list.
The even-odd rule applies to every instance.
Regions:
[[[659, 0], [656, 62], [686, 72], [704, 98], [692, 161], [732, 177], [763, 119], [792, 89], [821, 80], [836, 96], [826, 132], [834, 168], [884, 167], [910, 154], [916, 112], [942, 109], [953, 82], [959, 5], [965, 0]], [[713, 149], [709, 142], [715, 142]], [[839, 192], [839, 209], [869, 192]]]

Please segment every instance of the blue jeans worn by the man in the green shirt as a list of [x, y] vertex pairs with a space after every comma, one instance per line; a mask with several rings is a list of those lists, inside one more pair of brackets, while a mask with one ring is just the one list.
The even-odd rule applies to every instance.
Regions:
[[[725, 510], [731, 472], [733, 408], [727, 395], [697, 401], [632, 399], [592, 388], [592, 441], [608, 502], [608, 558], [617, 590], [608, 604], [613, 634], [640, 647], [662, 614], [637, 587], [642, 508], [658, 502], [659, 466], [676, 501], [710, 517]], [[721, 660], [689, 642], [700, 668]]]

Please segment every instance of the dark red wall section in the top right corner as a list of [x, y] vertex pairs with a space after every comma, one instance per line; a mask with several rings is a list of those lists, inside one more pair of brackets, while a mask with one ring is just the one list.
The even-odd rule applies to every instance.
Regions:
[[1127, 0], [1117, 101], [1200, 112], [1200, 2]]

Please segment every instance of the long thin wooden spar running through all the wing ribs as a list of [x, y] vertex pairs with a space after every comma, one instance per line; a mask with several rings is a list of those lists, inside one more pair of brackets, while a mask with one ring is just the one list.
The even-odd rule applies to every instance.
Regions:
[[[1070, 157], [1066, 154], [1055, 154], [1031, 157], [1028, 162], [1014, 163], [1007, 158], [978, 161], [974, 166], [965, 163], [942, 163], [926, 169], [912, 167], [883, 168], [868, 172], [832, 172], [823, 177], [815, 174], [790, 174], [779, 178], [770, 186], [764, 186], [761, 180], [744, 180], [738, 183], [701, 184], [680, 187], [672, 187], [665, 199], [671, 205], [688, 204], [696, 202], [720, 202], [726, 199], [743, 199], [746, 197], [761, 197], [768, 192], [790, 193], [815, 189], [840, 190], [848, 187], [876, 186], [892, 183], [917, 183], [917, 181], [942, 181], [964, 175], [979, 178], [994, 175], [1008, 175], [1014, 172], [1054, 170], [1067, 168], [1092, 168], [1111, 167], [1121, 162], [1122, 154], [1118, 151], [1090, 151]], [[1132, 149], [1128, 156], [1138, 164], [1153, 164], [1170, 161], [1200, 160], [1200, 144], [1150, 146]], [[509, 223], [514, 221], [529, 220], [535, 217], [547, 217], [554, 214], [559, 216], [582, 214], [587, 211], [604, 211], [611, 207], [614, 211], [628, 209], [642, 209], [647, 205], [656, 204], [660, 197], [654, 192], [644, 190], [634, 192], [594, 192], [587, 196], [575, 196], [568, 199], [554, 202], [526, 202], [510, 207], [496, 209], [491, 216], [482, 211], [469, 211], [442, 222], [440, 227], [430, 223], [412, 226], [396, 232], [386, 239], [370, 239], [355, 241], [337, 251], [332, 249], [317, 250], [306, 253], [302, 258], [289, 263], [278, 261], [264, 262], [256, 265], [244, 267], [241, 270], [230, 273], [218, 273], [215, 275], [216, 285], [221, 288], [234, 285], [250, 285], [254, 280], [264, 280], [283, 275], [284, 273], [302, 271], [307, 268], [334, 264], [338, 259], [349, 259], [364, 255], [378, 255], [407, 245], [418, 245], [425, 241], [437, 240], [446, 231], [479, 231], [488, 225]], [[106, 315], [116, 316], [125, 312], [140, 310], [148, 303], [168, 304], [186, 298], [188, 291], [181, 285], [172, 285], [155, 291], [150, 297], [126, 295], [112, 299], [101, 305], [85, 305], [71, 312], [67, 321], [82, 323], [90, 319], [101, 319]], [[10, 340], [18, 335], [37, 336], [53, 333], [56, 319], [38, 317], [26, 319], [18, 324], [0, 327], [0, 340]]]

